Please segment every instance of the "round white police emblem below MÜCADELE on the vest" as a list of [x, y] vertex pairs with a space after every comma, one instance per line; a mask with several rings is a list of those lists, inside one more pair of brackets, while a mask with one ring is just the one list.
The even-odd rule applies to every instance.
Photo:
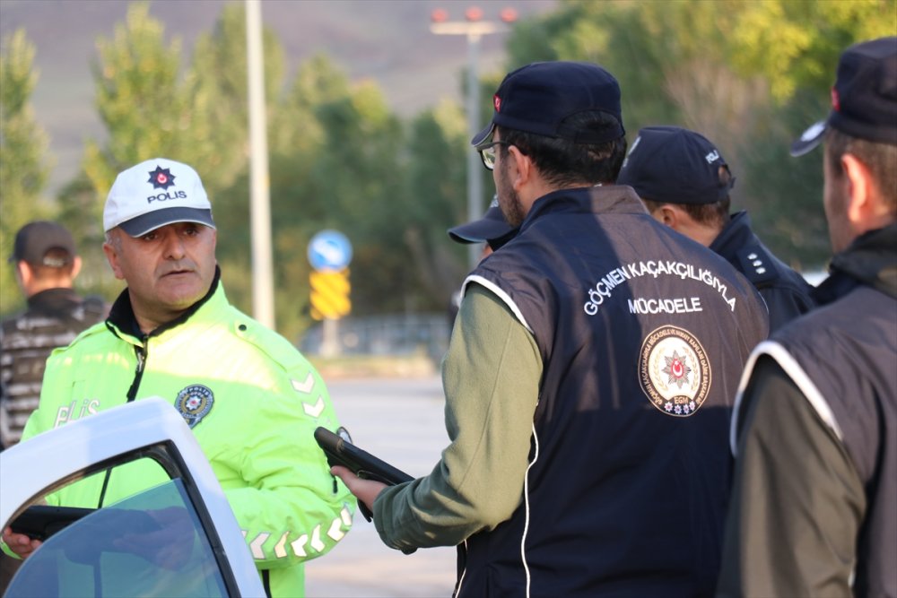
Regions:
[[660, 412], [688, 417], [710, 392], [710, 361], [701, 342], [676, 326], [661, 326], [641, 343], [641, 389]]

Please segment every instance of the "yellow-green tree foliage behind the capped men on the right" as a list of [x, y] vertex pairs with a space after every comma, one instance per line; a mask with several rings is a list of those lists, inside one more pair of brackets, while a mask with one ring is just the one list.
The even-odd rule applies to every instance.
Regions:
[[630, 142], [649, 125], [707, 135], [738, 178], [734, 208], [752, 212], [755, 228], [786, 261], [820, 264], [827, 249], [818, 242], [825, 238], [818, 165], [788, 158], [788, 145], [810, 124], [803, 112], [824, 114], [809, 92], [831, 84], [843, 48], [893, 35], [895, 5], [567, 1], [515, 28], [509, 65], [604, 65], [620, 81]]

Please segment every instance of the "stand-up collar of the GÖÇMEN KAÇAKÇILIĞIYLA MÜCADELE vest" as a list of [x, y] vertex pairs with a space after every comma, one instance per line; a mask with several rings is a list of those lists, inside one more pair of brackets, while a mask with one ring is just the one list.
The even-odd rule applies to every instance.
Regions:
[[520, 224], [520, 230], [525, 230], [533, 221], [549, 212], [648, 214], [645, 204], [641, 203], [631, 186], [584, 186], [560, 189], [539, 197]]

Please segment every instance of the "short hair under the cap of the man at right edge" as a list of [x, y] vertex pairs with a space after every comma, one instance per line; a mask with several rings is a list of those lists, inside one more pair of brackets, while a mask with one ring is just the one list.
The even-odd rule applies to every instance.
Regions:
[[891, 213], [897, 216], [897, 145], [891, 143], [876, 143], [852, 137], [830, 126], [825, 133], [826, 160], [832, 172], [841, 176], [843, 174], [840, 159], [845, 153], [857, 157], [863, 162], [869, 173], [875, 180], [882, 199], [889, 204]]

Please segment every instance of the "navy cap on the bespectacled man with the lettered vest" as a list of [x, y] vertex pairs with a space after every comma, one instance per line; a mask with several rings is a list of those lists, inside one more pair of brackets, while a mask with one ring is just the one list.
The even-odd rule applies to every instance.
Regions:
[[[488, 140], [496, 125], [574, 143], [605, 143], [626, 134], [619, 83], [605, 69], [587, 62], [537, 62], [520, 67], [505, 76], [492, 97], [492, 106], [492, 121], [471, 144]], [[565, 124], [568, 117], [595, 110], [612, 115], [618, 126], [595, 132]]]

